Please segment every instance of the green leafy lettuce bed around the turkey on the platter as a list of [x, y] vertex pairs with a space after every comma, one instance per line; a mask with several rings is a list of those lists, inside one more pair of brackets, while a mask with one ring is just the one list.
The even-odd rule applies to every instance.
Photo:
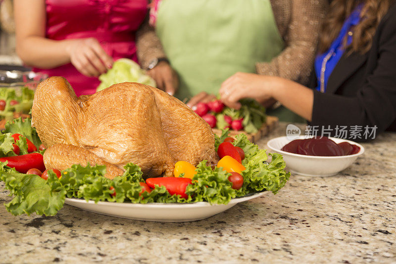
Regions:
[[[6, 126], [6, 131], [18, 132], [30, 140], [37, 140], [35, 129], [25, 127], [26, 122], [29, 121], [10, 122]], [[216, 136], [216, 149], [227, 135], [228, 131], [224, 131], [221, 137]], [[10, 148], [8, 134], [2, 133], [0, 137], [0, 148], [4, 146], [6, 152], [6, 149]], [[246, 170], [242, 172], [244, 184], [239, 190], [232, 188], [232, 183], [228, 180], [230, 173], [222, 168], [212, 168], [206, 160], [197, 165], [197, 174], [192, 179], [192, 184], [186, 188], [187, 199], [181, 198], [180, 195], [170, 195], [164, 186], [156, 186], [150, 193], [142, 193], [141, 182], [145, 182], [143, 173], [140, 167], [133, 163], [127, 164], [124, 167], [125, 172], [112, 180], [103, 177], [106, 173], [105, 166], [89, 164], [86, 167], [73, 165], [63, 170], [60, 178], [49, 171], [48, 180], [44, 180], [37, 175], [19, 173], [14, 168], [7, 167], [6, 162], [0, 162], [0, 180], [5, 183], [10, 195], [14, 195], [5, 207], [14, 215], [34, 212], [54, 215], [63, 207], [66, 197], [95, 202], [227, 204], [233, 198], [250, 193], [270, 191], [276, 194], [289, 180], [290, 172], [284, 170], [285, 161], [281, 155], [270, 154], [272, 160], [268, 163], [265, 151], [259, 150], [244, 134], [236, 136], [233, 144], [242, 148], [246, 155], [243, 160]]]

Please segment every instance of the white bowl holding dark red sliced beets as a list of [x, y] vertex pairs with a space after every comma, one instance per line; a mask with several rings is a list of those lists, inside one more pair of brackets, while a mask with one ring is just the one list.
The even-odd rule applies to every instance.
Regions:
[[[299, 136], [296, 139], [306, 138], [309, 137]], [[363, 146], [353, 141], [332, 137], [329, 137], [329, 139], [333, 140], [337, 144], [341, 142], [348, 142], [350, 144], [356, 145], [360, 148], [360, 151], [353, 155], [336, 157], [299, 155], [286, 151], [281, 151], [283, 146], [292, 141], [289, 140], [287, 137], [271, 139], [270, 141], [268, 141], [267, 146], [272, 151], [283, 155], [286, 166], [290, 169], [290, 171], [299, 175], [314, 177], [327, 177], [336, 175], [340, 171], [349, 167], [356, 160], [357, 157], [364, 153]]]

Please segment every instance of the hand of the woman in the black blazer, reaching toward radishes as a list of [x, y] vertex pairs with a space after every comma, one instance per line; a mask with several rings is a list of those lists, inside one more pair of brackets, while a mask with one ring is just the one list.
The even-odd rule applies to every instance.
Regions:
[[221, 101], [226, 106], [239, 109], [243, 98], [263, 103], [272, 98], [272, 78], [253, 73], [237, 72], [221, 84]]

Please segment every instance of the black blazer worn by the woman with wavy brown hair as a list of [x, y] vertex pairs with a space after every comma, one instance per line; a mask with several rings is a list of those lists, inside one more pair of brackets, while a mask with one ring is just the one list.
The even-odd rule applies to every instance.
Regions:
[[[312, 74], [310, 87], [317, 86]], [[314, 90], [310, 125], [377, 126], [376, 133], [396, 131], [396, 4], [378, 25], [373, 44], [366, 54], [352, 53], [340, 59], [331, 73], [326, 92]], [[364, 138], [347, 138], [364, 141]]]

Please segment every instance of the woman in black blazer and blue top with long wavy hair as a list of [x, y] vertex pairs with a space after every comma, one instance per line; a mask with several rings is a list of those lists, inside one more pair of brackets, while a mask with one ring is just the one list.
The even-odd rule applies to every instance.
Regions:
[[[333, 0], [309, 88], [279, 77], [237, 73], [222, 84], [220, 94], [235, 108], [242, 98], [274, 98], [317, 133], [366, 140], [375, 132], [396, 131], [395, 62], [395, 0]], [[340, 128], [347, 133], [341, 135]]]

